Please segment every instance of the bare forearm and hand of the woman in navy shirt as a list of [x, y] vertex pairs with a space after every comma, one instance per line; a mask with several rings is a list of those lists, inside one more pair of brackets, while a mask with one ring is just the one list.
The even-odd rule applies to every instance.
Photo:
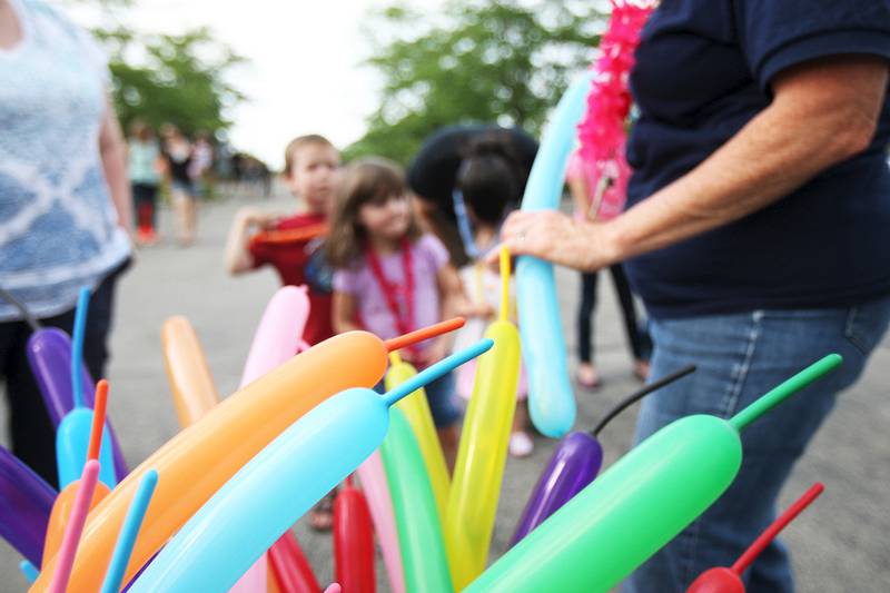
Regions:
[[888, 65], [843, 57], [779, 75], [774, 99], [695, 169], [609, 223], [516, 213], [504, 241], [568, 267], [595, 270], [738, 220], [864, 150], [884, 101]]

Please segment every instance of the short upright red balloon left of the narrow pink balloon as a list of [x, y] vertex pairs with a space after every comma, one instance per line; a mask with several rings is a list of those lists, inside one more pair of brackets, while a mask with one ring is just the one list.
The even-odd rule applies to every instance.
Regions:
[[347, 480], [334, 501], [336, 581], [343, 593], [374, 593], [374, 530], [365, 495]]

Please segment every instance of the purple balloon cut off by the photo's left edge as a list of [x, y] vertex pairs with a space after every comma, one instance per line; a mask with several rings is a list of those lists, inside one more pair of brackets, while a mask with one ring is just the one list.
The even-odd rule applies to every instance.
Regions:
[[56, 491], [18, 457], [0, 447], [0, 535], [40, 566]]

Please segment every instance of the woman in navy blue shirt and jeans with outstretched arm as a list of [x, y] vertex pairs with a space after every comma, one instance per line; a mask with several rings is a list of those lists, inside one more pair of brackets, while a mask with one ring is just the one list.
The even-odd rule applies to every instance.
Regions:
[[[609, 223], [516, 213], [514, 254], [596, 270], [626, 260], [655, 343], [652, 376], [699, 372], [641, 411], [732, 416], [838, 352], [839, 372], [754, 424], [726, 492], [625, 583], [681, 592], [771, 521], [794, 462], [890, 319], [890, 0], [663, 0], [631, 78], [626, 211]], [[793, 590], [780, 543], [748, 591]]]

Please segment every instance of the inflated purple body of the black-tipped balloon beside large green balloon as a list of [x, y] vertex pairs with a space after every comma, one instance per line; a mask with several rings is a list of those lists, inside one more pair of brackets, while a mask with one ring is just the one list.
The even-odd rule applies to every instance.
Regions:
[[560, 442], [525, 505], [511, 547], [584, 490], [603, 464], [603, 447], [587, 433], [572, 433]]

